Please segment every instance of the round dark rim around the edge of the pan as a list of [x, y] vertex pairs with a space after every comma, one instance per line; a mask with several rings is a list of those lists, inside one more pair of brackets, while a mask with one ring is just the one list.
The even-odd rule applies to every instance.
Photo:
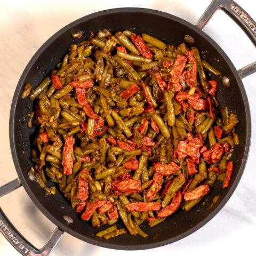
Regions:
[[[201, 222], [199, 222], [196, 226], [189, 228], [185, 233], [182, 233], [182, 234], [172, 237], [172, 238], [167, 238], [160, 242], [153, 241], [153, 242], [150, 242], [149, 244], [144, 244], [144, 245], [124, 246], [124, 245], [118, 245], [118, 244], [108, 244], [108, 243], [105, 243], [103, 240], [96, 241], [90, 237], [86, 237], [81, 234], [78, 234], [76, 231], [71, 229], [69, 226], [63, 225], [63, 223], [61, 221], [54, 218], [52, 216], [52, 214], [44, 208], [42, 203], [34, 195], [33, 191], [31, 191], [31, 189], [25, 179], [25, 176], [22, 173], [21, 167], [19, 165], [18, 157], [17, 157], [17, 151], [15, 149], [14, 116], [15, 116], [15, 110], [17, 108], [17, 100], [19, 97], [19, 91], [20, 91], [20, 87], [23, 85], [23, 80], [25, 79], [25, 77], [28, 73], [28, 70], [30, 70], [30, 68], [34, 65], [34, 62], [36, 61], [36, 59], [39, 57], [39, 55], [41, 55], [41, 53], [44, 52], [46, 47], [48, 47], [52, 43], [52, 41], [57, 39], [62, 33], [65, 33], [65, 31], [73, 28], [74, 26], [78, 25], [81, 22], [85, 22], [86, 20], [90, 20], [90, 19], [102, 16], [102, 15], [115, 14], [117, 12], [118, 13], [120, 13], [120, 12], [121, 13], [122, 12], [125, 12], [125, 13], [138, 12], [138, 13], [154, 14], [156, 16], [158, 15], [158, 16], [170, 19], [170, 20], [175, 20], [176, 22], [181, 23], [182, 25], [188, 27], [189, 29], [194, 30], [196, 33], [203, 36], [210, 44], [212, 44], [216, 49], [218, 49], [218, 51], [221, 53], [223, 58], [227, 61], [227, 64], [229, 65], [231, 71], [234, 74], [236, 82], [238, 83], [239, 89], [241, 90], [243, 102], [244, 102], [244, 106], [245, 106], [245, 114], [246, 114], [247, 138], [246, 138], [246, 142], [245, 142], [245, 150], [244, 150], [245, 153], [244, 153], [244, 156], [242, 159], [241, 166], [240, 166], [237, 176], [235, 178], [235, 181], [234, 181], [233, 185], [229, 188], [227, 195], [222, 199], [221, 203], [216, 207], [216, 209], [214, 209], [209, 215], [207, 215], [207, 217], [205, 219], [203, 219]], [[241, 180], [241, 177], [242, 177], [242, 174], [244, 172], [245, 165], [247, 162], [247, 157], [248, 157], [248, 153], [249, 153], [249, 149], [250, 149], [250, 142], [251, 142], [251, 115], [250, 115], [250, 108], [249, 108], [249, 102], [247, 99], [247, 95], [246, 95], [243, 83], [241, 81], [241, 78], [239, 77], [239, 75], [237, 73], [237, 70], [235, 69], [233, 63], [228, 58], [227, 54], [221, 49], [221, 47], [217, 43], [215, 43], [213, 41], [213, 39], [210, 36], [208, 36], [202, 30], [198, 29], [195, 25], [193, 25], [190, 22], [183, 20], [179, 17], [176, 17], [175, 15], [172, 15], [172, 14], [169, 14], [166, 12], [162, 12], [162, 11], [153, 10], [153, 9], [145, 9], [145, 8], [138, 8], [138, 7], [123, 7], [123, 8], [103, 10], [103, 11], [95, 12], [95, 13], [86, 15], [82, 18], [79, 18], [79, 19], [69, 23], [67, 26], [61, 28], [59, 31], [57, 31], [57, 33], [55, 33], [49, 39], [47, 39], [47, 41], [37, 50], [37, 52], [33, 55], [33, 57], [28, 62], [25, 70], [23, 71], [23, 73], [19, 79], [19, 82], [17, 84], [17, 87], [15, 89], [14, 95], [13, 95], [12, 105], [11, 105], [11, 110], [10, 110], [10, 119], [9, 119], [9, 137], [10, 137], [11, 154], [12, 154], [12, 159], [14, 162], [15, 170], [18, 173], [18, 176], [21, 180], [23, 187], [26, 190], [26, 193], [29, 195], [29, 197], [35, 203], [35, 205], [38, 207], [38, 209], [51, 222], [53, 222], [54, 225], [58, 226], [61, 230], [67, 232], [68, 234], [70, 234], [78, 239], [81, 239], [82, 241], [93, 244], [93, 245], [98, 245], [101, 247], [106, 247], [109, 249], [117, 249], [117, 250], [145, 250], [145, 249], [153, 249], [155, 247], [164, 246], [164, 245], [176, 242], [176, 241], [178, 241], [182, 238], [185, 238], [188, 235], [194, 233], [196, 230], [198, 230], [199, 228], [204, 226], [207, 222], [209, 222], [222, 209], [222, 207], [227, 203], [227, 201], [229, 200], [231, 195], [234, 193], [234, 190], [237, 187], [239, 181]]]

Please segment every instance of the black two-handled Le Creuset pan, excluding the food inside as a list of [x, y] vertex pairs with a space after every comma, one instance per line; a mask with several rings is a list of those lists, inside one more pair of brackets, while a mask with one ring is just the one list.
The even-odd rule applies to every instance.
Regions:
[[[205, 225], [226, 204], [241, 179], [250, 145], [250, 110], [241, 77], [252, 73], [256, 65], [253, 63], [239, 70], [238, 74], [225, 52], [201, 31], [214, 11], [219, 8], [223, 9], [239, 23], [253, 43], [256, 44], [256, 25], [251, 17], [233, 1], [217, 0], [211, 3], [196, 26], [173, 15], [149, 9], [123, 8], [97, 12], [62, 28], [36, 52], [23, 71], [15, 90], [11, 107], [10, 143], [19, 179], [0, 188], [0, 196], [9, 193], [22, 184], [37, 207], [58, 228], [55, 229], [45, 247], [37, 250], [15, 230], [4, 213], [0, 211], [0, 231], [23, 255], [47, 255], [58, 242], [63, 231], [85, 242], [112, 249], [141, 250], [166, 245], [188, 236]], [[231, 86], [227, 88], [222, 86], [221, 81], [218, 81], [220, 85], [218, 99], [222, 105], [226, 105], [231, 111], [234, 111], [239, 118], [240, 123], [237, 127], [237, 133], [239, 134], [240, 145], [236, 148], [233, 157], [235, 168], [230, 186], [227, 189], [222, 189], [220, 184], [219, 186], [214, 186], [212, 193], [204, 201], [204, 204], [198, 204], [188, 213], [179, 211], [154, 228], [149, 228], [146, 225], [143, 229], [149, 234], [148, 238], [125, 234], [105, 241], [95, 237], [96, 230], [89, 223], [79, 218], [61, 193], [55, 196], [46, 196], [45, 192], [39, 189], [37, 183], [30, 180], [27, 171], [32, 166], [32, 163], [28, 152], [30, 152], [30, 137], [34, 130], [27, 129], [23, 117], [26, 117], [33, 109], [33, 105], [28, 99], [20, 99], [20, 94], [26, 82], [34, 85], [39, 84], [49, 74], [50, 70], [55, 67], [55, 64], [62, 59], [68, 46], [73, 42], [79, 42], [79, 39], [71, 39], [72, 33], [83, 30], [85, 35], [88, 35], [90, 30], [97, 31], [107, 28], [114, 32], [131, 27], [136, 28], [136, 33], [138, 34], [154, 35], [164, 42], [174, 45], [181, 43], [184, 35], [190, 35], [195, 39], [195, 46], [198, 49], [209, 52], [206, 58], [207, 61], [214, 63], [214, 58], [220, 60], [218, 69], [228, 77]], [[220, 198], [209, 209], [209, 205], [215, 195], [220, 195]]]

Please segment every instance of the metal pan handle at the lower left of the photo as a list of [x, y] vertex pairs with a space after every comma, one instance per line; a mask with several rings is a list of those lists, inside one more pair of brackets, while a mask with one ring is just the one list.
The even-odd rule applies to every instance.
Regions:
[[[4, 186], [0, 187], [0, 197], [11, 193], [13, 190], [21, 187], [19, 179], [15, 179]], [[6, 217], [0, 207], [0, 233], [9, 241], [9, 243], [23, 256], [47, 256], [59, 242], [63, 231], [58, 227], [55, 228], [51, 237], [47, 240], [41, 249], [30, 244], [25, 237], [12, 225], [11, 221]]]

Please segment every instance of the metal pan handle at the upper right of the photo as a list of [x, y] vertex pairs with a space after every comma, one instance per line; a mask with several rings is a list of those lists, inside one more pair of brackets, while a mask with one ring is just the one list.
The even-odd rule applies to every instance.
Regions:
[[[196, 26], [199, 29], [203, 29], [207, 22], [211, 19], [212, 15], [217, 10], [223, 10], [226, 14], [232, 18], [239, 27], [244, 30], [244, 33], [251, 39], [252, 43], [256, 46], [256, 23], [252, 17], [245, 12], [245, 10], [239, 6], [233, 0], [213, 0], [207, 7], [203, 15], [197, 21]], [[238, 70], [238, 75], [241, 78], [249, 76], [256, 72], [256, 62], [253, 62], [246, 67]]]

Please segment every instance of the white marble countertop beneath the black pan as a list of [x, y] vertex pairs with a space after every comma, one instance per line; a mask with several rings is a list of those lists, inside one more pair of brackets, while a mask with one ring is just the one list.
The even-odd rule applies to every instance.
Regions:
[[[193, 3], [191, 3], [193, 2]], [[9, 146], [9, 113], [18, 79], [30, 58], [52, 34], [71, 21], [100, 10], [115, 7], [147, 7], [165, 11], [193, 24], [207, 5], [205, 0], [149, 0], [149, 1], [4, 1], [0, 0], [0, 186], [17, 178]], [[256, 3], [237, 0], [256, 20]], [[254, 3], [253, 3], [254, 2]], [[93, 4], [92, 4], [93, 3]], [[214, 15], [204, 31], [228, 54], [237, 69], [256, 60], [256, 49], [242, 30], [223, 12]], [[255, 252], [256, 237], [256, 74], [243, 79], [252, 115], [252, 143], [249, 159], [241, 182], [223, 209], [194, 234], [170, 245], [132, 254], [155, 255], [238, 255]], [[7, 216], [26, 238], [36, 246], [44, 244], [54, 225], [44, 217], [23, 188], [0, 199]], [[72, 245], [72, 246], [70, 246]], [[104, 249], [64, 234], [52, 255], [131, 255], [129, 251]], [[19, 255], [0, 235], [0, 254]]]

